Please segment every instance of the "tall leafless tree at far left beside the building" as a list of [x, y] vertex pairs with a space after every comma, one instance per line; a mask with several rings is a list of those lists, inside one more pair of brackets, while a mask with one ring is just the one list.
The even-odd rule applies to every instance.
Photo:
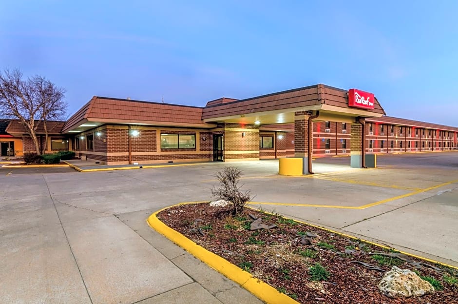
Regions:
[[41, 154], [37, 129], [46, 121], [65, 115], [67, 103], [62, 101], [65, 90], [41, 76], [22, 80], [19, 69], [0, 71], [0, 117], [18, 119], [32, 138], [37, 154]]

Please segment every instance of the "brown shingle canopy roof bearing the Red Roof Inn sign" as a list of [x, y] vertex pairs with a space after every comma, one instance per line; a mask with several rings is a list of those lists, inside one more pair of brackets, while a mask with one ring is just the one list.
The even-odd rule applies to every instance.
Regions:
[[[323, 84], [311, 85], [239, 101], [208, 105], [203, 110], [202, 119], [221, 118], [320, 104], [348, 108], [347, 94], [348, 91], [343, 89]], [[368, 112], [385, 114], [377, 99], [375, 101], [375, 108], [373, 110], [368, 110]]]

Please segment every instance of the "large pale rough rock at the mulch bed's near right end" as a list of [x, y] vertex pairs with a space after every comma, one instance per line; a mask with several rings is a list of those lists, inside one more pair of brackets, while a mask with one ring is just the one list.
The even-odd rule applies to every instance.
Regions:
[[434, 287], [409, 269], [393, 266], [379, 283], [379, 290], [390, 298], [420, 297], [434, 293]]

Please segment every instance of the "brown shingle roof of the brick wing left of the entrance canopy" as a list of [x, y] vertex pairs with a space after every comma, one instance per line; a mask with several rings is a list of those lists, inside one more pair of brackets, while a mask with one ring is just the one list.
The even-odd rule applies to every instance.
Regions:
[[95, 96], [65, 123], [62, 131], [87, 121], [214, 127], [202, 121], [202, 107]]

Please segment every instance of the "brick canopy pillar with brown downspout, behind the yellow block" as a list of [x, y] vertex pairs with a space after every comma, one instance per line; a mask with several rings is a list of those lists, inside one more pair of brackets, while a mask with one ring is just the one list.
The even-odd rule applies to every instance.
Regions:
[[[299, 111], [294, 113], [294, 156], [302, 158], [302, 173], [308, 174], [308, 118], [312, 115], [310, 111]], [[313, 125], [312, 130], [313, 132]], [[310, 141], [312, 143], [313, 141]]]

